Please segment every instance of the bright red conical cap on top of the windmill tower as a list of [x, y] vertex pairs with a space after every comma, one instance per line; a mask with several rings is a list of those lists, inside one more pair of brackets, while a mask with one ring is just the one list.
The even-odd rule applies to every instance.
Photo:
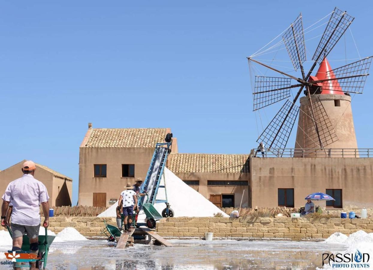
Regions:
[[[316, 77], [318, 80], [334, 79], [335, 75], [326, 58], [321, 62]], [[343, 90], [338, 83], [338, 80], [324, 81], [322, 84], [322, 94], [340, 94], [343, 95]]]

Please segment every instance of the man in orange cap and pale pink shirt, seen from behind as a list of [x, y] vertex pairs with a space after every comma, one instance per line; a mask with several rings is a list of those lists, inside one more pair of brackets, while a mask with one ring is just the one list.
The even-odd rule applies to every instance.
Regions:
[[[46, 186], [34, 178], [35, 170], [36, 167], [33, 161], [24, 162], [22, 166], [23, 176], [10, 182], [1, 197], [3, 199], [1, 226], [10, 225], [13, 238], [12, 251], [21, 250], [23, 235], [27, 235], [30, 240], [31, 253], [38, 254], [38, 236], [41, 221], [39, 214], [40, 204], [44, 213], [43, 226], [49, 226], [49, 196]], [[12, 212], [10, 224], [7, 220], [9, 211]], [[16, 269], [19, 269], [19, 267], [16, 266]], [[31, 269], [35, 269], [35, 263], [31, 263]]]

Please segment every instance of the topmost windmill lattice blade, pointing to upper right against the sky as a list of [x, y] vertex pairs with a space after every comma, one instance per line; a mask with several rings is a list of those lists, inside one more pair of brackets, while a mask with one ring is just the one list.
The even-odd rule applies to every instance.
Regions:
[[320, 63], [323, 58], [330, 53], [353, 20], [354, 17], [348, 15], [346, 12], [343, 12], [338, 8], [335, 8], [332, 16], [330, 16], [329, 22], [312, 57], [312, 60]]

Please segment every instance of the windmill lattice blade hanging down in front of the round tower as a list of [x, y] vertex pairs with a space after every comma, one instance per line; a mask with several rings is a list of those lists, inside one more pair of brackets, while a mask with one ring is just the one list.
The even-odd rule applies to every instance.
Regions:
[[[328, 115], [326, 114], [325, 108], [320, 101], [319, 97], [312, 99], [314, 109], [314, 119], [311, 117], [311, 106], [310, 101], [308, 104], [302, 105], [301, 109], [303, 112], [303, 142], [304, 148], [325, 148], [333, 142], [338, 141], [338, 136], [335, 133], [332, 123]], [[315, 123], [319, 131], [320, 140], [322, 146], [319, 143], [319, 136], [317, 135]]]

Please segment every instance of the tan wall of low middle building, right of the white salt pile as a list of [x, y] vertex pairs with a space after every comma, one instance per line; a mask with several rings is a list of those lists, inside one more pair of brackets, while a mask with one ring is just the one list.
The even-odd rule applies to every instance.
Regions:
[[241, 180], [248, 181], [250, 185], [249, 173], [175, 173], [182, 180], [199, 180], [199, 186], [191, 186], [205, 198], [210, 199], [211, 194], [234, 194], [235, 207], [239, 207], [243, 190], [242, 207], [251, 207], [249, 186], [207, 186], [207, 180]]

